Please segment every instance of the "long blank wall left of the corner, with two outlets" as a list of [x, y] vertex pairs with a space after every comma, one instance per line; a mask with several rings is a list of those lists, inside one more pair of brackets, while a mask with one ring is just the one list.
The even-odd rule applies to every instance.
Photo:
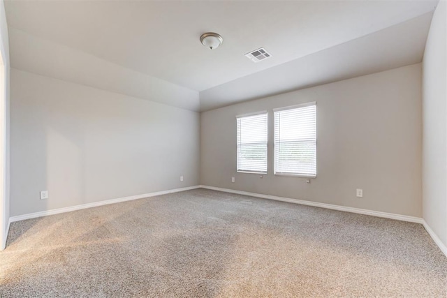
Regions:
[[11, 216], [198, 184], [198, 112], [15, 68], [10, 88]]

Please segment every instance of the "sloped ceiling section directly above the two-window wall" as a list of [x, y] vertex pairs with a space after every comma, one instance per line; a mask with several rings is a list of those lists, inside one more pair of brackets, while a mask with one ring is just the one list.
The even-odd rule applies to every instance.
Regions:
[[422, 61], [432, 13], [200, 92], [211, 110], [244, 100], [416, 64]]

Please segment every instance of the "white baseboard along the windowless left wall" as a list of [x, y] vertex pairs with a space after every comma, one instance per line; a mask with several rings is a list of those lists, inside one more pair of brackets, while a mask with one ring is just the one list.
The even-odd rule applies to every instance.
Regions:
[[41, 216], [48, 216], [48, 215], [53, 215], [53, 214], [60, 214], [60, 213], [65, 213], [65, 212], [76, 211], [76, 210], [80, 210], [80, 209], [87, 209], [87, 208], [91, 208], [91, 207], [115, 204], [115, 203], [119, 203], [119, 202], [126, 202], [126, 201], [131, 201], [131, 200], [150, 198], [150, 197], [155, 197], [156, 195], [166, 195], [168, 193], [178, 193], [180, 191], [190, 191], [191, 189], [196, 189], [196, 188], [200, 188], [200, 186], [196, 185], [196, 186], [189, 186], [189, 187], [184, 187], [184, 188], [175, 188], [175, 189], [170, 189], [168, 191], [157, 191], [156, 193], [144, 193], [142, 195], [131, 195], [129, 197], [124, 197], [124, 198], [117, 198], [117, 199], [112, 199], [112, 200], [104, 200], [104, 201], [99, 201], [99, 202], [80, 204], [80, 205], [75, 205], [75, 206], [71, 206], [71, 207], [64, 207], [64, 208], [59, 208], [59, 209], [40, 211], [40, 212], [35, 212], [35, 213], [30, 213], [30, 214], [23, 214], [23, 215], [19, 215], [19, 216], [11, 216], [9, 218], [9, 221], [10, 221], [10, 223], [13, 223], [15, 221], [23, 221], [24, 219], [29, 219], [29, 218], [36, 218], [36, 217], [41, 217]]

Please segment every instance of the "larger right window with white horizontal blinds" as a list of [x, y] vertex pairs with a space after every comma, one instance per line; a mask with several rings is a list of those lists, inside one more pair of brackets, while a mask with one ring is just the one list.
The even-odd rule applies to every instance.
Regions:
[[274, 110], [274, 174], [316, 177], [316, 103]]

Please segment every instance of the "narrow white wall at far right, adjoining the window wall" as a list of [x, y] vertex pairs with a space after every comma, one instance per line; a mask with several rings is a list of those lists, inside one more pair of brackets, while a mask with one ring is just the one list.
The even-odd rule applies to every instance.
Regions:
[[440, 1], [423, 59], [423, 218], [447, 246], [446, 10]]

